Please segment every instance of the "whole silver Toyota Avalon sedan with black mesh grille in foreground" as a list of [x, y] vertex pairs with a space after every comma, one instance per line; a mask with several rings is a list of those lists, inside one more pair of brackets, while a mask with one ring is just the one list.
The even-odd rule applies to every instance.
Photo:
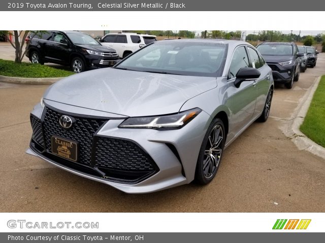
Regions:
[[208, 184], [223, 150], [267, 120], [273, 89], [246, 42], [154, 42], [50, 86], [30, 114], [27, 152], [127, 193]]

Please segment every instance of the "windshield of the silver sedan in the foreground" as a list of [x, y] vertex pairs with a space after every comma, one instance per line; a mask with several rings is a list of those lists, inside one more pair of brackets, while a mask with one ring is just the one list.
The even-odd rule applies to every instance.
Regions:
[[115, 68], [191, 76], [220, 76], [228, 45], [191, 42], [154, 42]]

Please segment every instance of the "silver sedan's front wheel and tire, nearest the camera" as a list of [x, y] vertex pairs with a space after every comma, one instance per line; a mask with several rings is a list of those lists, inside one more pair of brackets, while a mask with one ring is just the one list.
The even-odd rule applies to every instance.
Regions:
[[212, 120], [204, 136], [195, 172], [195, 181], [206, 185], [210, 183], [220, 167], [226, 134], [222, 120]]

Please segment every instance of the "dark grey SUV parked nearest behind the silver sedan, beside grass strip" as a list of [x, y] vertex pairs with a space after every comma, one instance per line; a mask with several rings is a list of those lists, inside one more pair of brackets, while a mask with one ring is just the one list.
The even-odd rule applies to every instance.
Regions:
[[294, 81], [300, 75], [300, 57], [304, 54], [298, 52], [295, 43], [264, 42], [256, 49], [262, 54], [264, 60], [272, 69], [274, 82], [284, 84], [291, 89]]

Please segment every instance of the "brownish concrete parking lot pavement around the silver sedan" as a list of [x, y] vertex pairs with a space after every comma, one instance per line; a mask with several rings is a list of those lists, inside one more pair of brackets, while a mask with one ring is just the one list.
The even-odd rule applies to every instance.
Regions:
[[281, 128], [316, 77], [325, 54], [291, 90], [276, 86], [270, 118], [251, 125], [223, 154], [207, 186], [125, 194], [27, 155], [29, 112], [48, 86], [0, 83], [0, 212], [324, 212], [325, 160]]

